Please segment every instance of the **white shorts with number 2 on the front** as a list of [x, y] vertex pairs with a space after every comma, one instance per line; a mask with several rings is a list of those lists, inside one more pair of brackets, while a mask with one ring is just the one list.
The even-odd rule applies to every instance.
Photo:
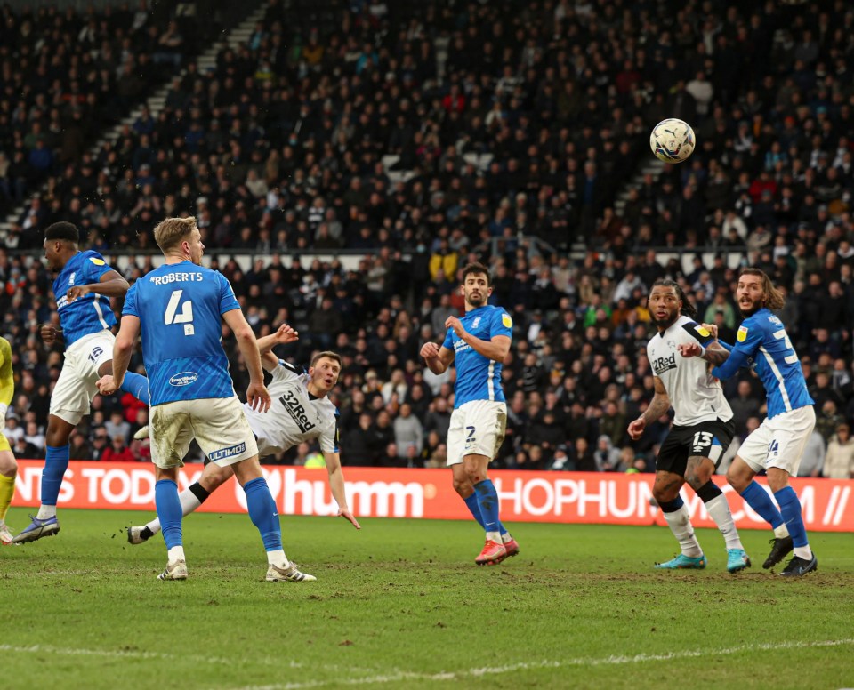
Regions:
[[447, 466], [457, 465], [466, 455], [486, 455], [495, 460], [504, 443], [507, 405], [493, 400], [471, 400], [451, 413], [447, 429]]

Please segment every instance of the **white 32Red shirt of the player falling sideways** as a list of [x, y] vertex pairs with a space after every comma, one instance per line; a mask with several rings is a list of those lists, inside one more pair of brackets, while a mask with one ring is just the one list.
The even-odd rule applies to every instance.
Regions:
[[338, 408], [327, 397], [310, 395], [308, 373], [279, 359], [270, 374], [270, 410], [256, 412], [244, 405], [261, 457], [282, 453], [315, 438], [322, 453], [338, 453]]

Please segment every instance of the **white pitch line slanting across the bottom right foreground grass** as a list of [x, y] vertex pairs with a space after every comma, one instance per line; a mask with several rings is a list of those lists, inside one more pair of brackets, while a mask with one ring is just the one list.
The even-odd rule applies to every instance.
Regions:
[[744, 652], [768, 652], [779, 649], [807, 649], [810, 647], [829, 647], [854, 645], [854, 638], [819, 640], [818, 642], [767, 642], [759, 645], [742, 645], [722, 649], [687, 649], [668, 654], [635, 654], [633, 656], [604, 656], [596, 658], [579, 657], [566, 661], [519, 662], [505, 666], [487, 666], [479, 669], [444, 671], [442, 673], [415, 673], [413, 671], [393, 671], [387, 675], [366, 678], [336, 678], [334, 680], [310, 680], [304, 683], [285, 683], [270, 686], [245, 686], [239, 690], [303, 690], [303, 688], [330, 685], [367, 686], [382, 683], [398, 683], [402, 680], [461, 680], [463, 678], [482, 678], [519, 670], [560, 669], [568, 666], [614, 666], [628, 663], [670, 662], [690, 659], [698, 656], [742, 654]]

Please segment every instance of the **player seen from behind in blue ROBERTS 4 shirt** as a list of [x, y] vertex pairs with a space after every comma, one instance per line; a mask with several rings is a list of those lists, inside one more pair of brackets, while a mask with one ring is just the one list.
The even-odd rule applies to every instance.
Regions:
[[294, 566], [282, 549], [276, 503], [270, 495], [258, 446], [234, 393], [229, 360], [222, 349], [222, 320], [238, 341], [249, 372], [246, 400], [256, 412], [270, 409], [261, 353], [229, 281], [201, 265], [196, 219], [167, 218], [154, 229], [165, 257], [159, 268], [128, 291], [113, 349], [113, 373], [101, 380], [104, 394], [125, 379], [137, 338], [149, 373], [151, 461], [157, 517], [163, 525], [167, 561], [159, 580], [186, 580], [178, 469], [195, 438], [214, 463], [230, 467], [246, 492], [246, 507], [267, 551], [268, 582], [316, 580]]

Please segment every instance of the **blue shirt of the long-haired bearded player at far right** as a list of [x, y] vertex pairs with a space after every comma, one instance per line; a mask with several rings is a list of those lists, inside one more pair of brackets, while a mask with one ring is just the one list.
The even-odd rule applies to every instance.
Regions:
[[807, 390], [801, 361], [786, 334], [786, 327], [769, 309], [760, 309], [745, 318], [738, 328], [729, 358], [714, 367], [712, 375], [729, 379], [751, 361], [765, 386], [769, 419], [815, 404]]

